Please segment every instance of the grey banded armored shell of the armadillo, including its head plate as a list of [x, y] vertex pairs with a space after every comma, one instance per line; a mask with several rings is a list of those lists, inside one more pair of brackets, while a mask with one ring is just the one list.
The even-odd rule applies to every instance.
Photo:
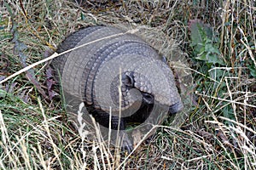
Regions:
[[[133, 73], [132, 88], [152, 94], [161, 105], [175, 105], [171, 112], [182, 108], [171, 69], [141, 38], [114, 27], [92, 26], [67, 37], [57, 52], [85, 43], [89, 44], [54, 59], [65, 93], [103, 111], [108, 112], [110, 107], [118, 111], [119, 88], [113, 86], [119, 87], [120, 75], [128, 71]], [[122, 91], [121, 97], [122, 111], [138, 100], [128, 89]]]

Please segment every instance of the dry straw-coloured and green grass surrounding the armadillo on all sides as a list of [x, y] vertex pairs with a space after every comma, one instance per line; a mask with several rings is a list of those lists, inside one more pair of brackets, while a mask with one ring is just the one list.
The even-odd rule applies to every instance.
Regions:
[[[139, 28], [138, 34], [173, 67], [184, 67], [173, 65], [173, 55], [188, 62], [189, 68], [178, 74], [193, 78], [189, 96], [194, 103], [175, 126], [160, 125], [153, 139], [127, 156], [102, 144], [101, 136], [81, 138], [61, 96], [45, 99], [27, 72], [19, 74], [0, 84], [1, 169], [255, 169], [254, 1], [87, 1], [81, 7], [64, 0], [20, 2], [0, 4], [0, 80], [24, 67], [11, 41], [14, 25], [26, 45], [20, 49], [26, 65], [49, 56], [67, 34], [83, 26], [125, 26]], [[224, 65], [201, 58], [191, 45], [189, 22], [195, 19], [212, 27], [218, 41], [205, 39], [218, 49]], [[46, 66], [33, 71], [47, 94]]]

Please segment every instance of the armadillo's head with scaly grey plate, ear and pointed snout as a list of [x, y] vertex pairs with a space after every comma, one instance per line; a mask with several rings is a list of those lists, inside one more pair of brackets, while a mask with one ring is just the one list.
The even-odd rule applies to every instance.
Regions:
[[[169, 114], [183, 109], [172, 70], [165, 64], [161, 64], [160, 71], [148, 71], [148, 74], [125, 71], [122, 74], [121, 93], [124, 101], [122, 105], [125, 108], [131, 106], [135, 100], [141, 100], [141, 106], [165, 105]], [[141, 98], [138, 99], [138, 96]]]

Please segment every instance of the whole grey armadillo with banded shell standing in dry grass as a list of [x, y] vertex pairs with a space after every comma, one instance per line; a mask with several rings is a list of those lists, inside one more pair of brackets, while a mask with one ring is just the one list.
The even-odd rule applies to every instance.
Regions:
[[[159, 111], [156, 104], [171, 114], [182, 110], [171, 68], [141, 37], [112, 26], [90, 26], [68, 36], [57, 53], [71, 48], [76, 49], [52, 65], [64, 94], [83, 101], [103, 127], [109, 127], [110, 112], [111, 128], [125, 130], [127, 123], [143, 123]], [[122, 146], [131, 150], [130, 139]]]

